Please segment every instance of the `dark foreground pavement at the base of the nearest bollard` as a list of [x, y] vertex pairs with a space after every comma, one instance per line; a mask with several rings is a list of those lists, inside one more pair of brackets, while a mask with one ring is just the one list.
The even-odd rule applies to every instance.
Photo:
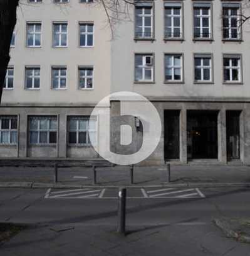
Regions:
[[0, 247], [1, 256], [191, 256], [245, 255], [249, 245], [221, 235], [212, 223], [128, 226], [122, 237], [115, 226], [44, 226], [21, 231]]

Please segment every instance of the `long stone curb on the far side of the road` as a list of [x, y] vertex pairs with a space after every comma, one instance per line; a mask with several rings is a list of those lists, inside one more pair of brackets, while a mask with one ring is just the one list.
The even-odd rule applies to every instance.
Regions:
[[159, 185], [99, 185], [99, 184], [89, 184], [89, 185], [81, 185], [81, 184], [62, 184], [62, 183], [41, 183], [41, 182], [0, 182], [0, 188], [2, 187], [19, 187], [19, 188], [33, 188], [33, 189], [42, 189], [42, 188], [83, 188], [83, 187], [250, 187], [249, 182], [192, 182], [192, 183], [163, 183]]

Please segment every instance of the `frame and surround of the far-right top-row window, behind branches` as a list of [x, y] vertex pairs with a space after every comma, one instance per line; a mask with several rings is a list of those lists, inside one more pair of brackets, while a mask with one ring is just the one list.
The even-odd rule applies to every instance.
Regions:
[[[223, 14], [223, 9], [224, 8], [237, 8], [237, 12], [239, 12], [239, 14], [237, 14], [237, 16], [240, 16], [241, 14], [242, 14], [242, 7], [241, 7], [241, 3], [236, 3], [236, 2], [232, 2], [232, 3], [222, 3], [221, 4], [221, 13], [222, 13], [222, 18], [221, 18], [221, 38], [222, 38], [222, 41], [223, 42], [230, 42], [230, 41], [232, 41], [232, 42], [241, 42], [242, 41], [242, 26], [240, 26], [240, 28], [239, 27], [237, 27], [237, 33], [238, 33], [238, 35], [239, 35], [239, 38], [224, 38], [224, 14]], [[236, 17], [237, 17], [236, 16]], [[228, 19], [229, 19], [229, 16], [227, 16], [228, 17]], [[237, 21], [237, 23], [238, 23], [238, 21]], [[229, 35], [230, 35], [230, 33], [232, 33], [232, 32], [230, 32], [231, 30], [232, 30], [232, 28], [228, 28], [228, 30], [229, 30]]]

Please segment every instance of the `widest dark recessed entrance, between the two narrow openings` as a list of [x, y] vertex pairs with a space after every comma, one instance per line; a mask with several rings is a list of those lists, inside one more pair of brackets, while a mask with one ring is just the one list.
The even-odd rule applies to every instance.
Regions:
[[188, 159], [218, 158], [218, 111], [187, 111]]

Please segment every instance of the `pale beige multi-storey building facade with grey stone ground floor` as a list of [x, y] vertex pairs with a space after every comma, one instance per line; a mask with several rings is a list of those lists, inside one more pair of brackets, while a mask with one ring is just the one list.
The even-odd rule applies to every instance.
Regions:
[[[102, 124], [91, 110], [111, 92], [132, 91], [162, 120], [147, 162], [250, 164], [247, 1], [140, 1], [128, 6], [132, 21], [114, 24], [113, 40], [90, 0], [28, 2], [0, 108], [1, 157], [97, 158], [88, 133], [98, 138]], [[110, 109], [119, 116], [117, 101]], [[136, 129], [128, 152], [142, 136]], [[123, 151], [117, 140], [112, 147]]]

